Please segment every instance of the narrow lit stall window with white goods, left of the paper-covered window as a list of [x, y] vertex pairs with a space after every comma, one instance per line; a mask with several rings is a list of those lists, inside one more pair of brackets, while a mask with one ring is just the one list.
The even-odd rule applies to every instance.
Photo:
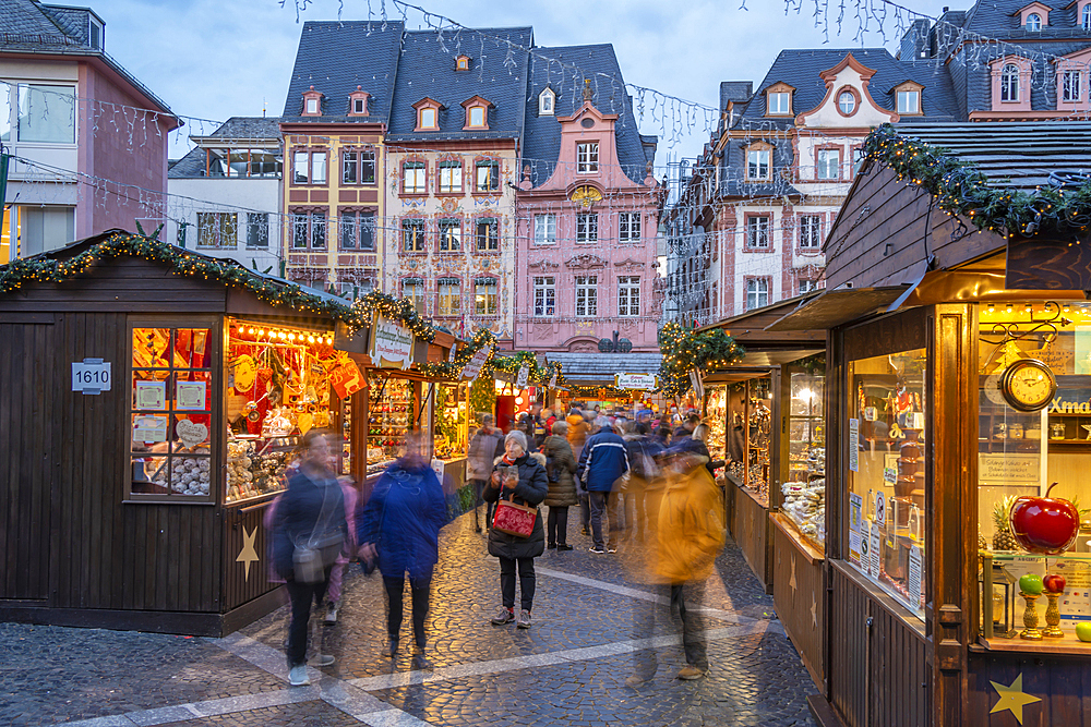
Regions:
[[825, 377], [786, 367], [790, 376], [788, 477], [781, 485], [782, 509], [803, 536], [819, 548], [826, 543], [826, 432], [823, 419]]

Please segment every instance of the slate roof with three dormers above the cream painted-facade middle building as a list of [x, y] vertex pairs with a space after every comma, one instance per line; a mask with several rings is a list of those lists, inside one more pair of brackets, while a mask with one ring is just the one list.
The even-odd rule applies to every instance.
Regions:
[[[394, 110], [386, 134], [388, 142], [518, 138], [527, 93], [527, 51], [533, 29], [473, 28], [455, 35], [439, 31], [405, 34], [398, 76], [394, 86]], [[469, 71], [455, 71], [455, 58], [470, 58]], [[467, 130], [463, 101], [475, 96], [492, 102], [489, 131]], [[415, 132], [417, 110], [412, 105], [431, 98], [440, 111], [440, 131]]]

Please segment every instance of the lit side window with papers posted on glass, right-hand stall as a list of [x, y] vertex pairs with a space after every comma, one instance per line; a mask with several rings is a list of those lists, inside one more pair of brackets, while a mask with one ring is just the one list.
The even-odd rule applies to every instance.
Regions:
[[924, 618], [926, 351], [849, 362], [849, 561]]

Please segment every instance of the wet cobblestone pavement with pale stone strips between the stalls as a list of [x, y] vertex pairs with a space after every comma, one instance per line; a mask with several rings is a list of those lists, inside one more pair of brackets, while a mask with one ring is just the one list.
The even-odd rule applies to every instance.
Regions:
[[[813, 725], [804, 698], [816, 690], [732, 543], [707, 594], [711, 670], [687, 682], [675, 678], [684, 658], [673, 626], [634, 626], [657, 598], [624, 567], [637, 543], [596, 555], [577, 533], [575, 550], [547, 552], [533, 628], [516, 630], [489, 623], [500, 578], [484, 538], [472, 516], [443, 532], [428, 663], [405, 646], [393, 661], [380, 654], [382, 581], [351, 570], [338, 625], [313, 623], [312, 644], [337, 663], [310, 668], [311, 687], [287, 683], [286, 607], [225, 639], [0, 625], [0, 724]], [[406, 616], [403, 644], [408, 594]], [[634, 690], [624, 681], [643, 650], [659, 670]]]

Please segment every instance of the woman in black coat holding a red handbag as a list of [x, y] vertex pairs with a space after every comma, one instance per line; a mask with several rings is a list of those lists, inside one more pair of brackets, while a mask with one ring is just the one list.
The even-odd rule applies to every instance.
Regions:
[[546, 456], [527, 453], [527, 437], [513, 429], [504, 437], [504, 456], [496, 460], [487, 502], [496, 502], [496, 516], [489, 531], [489, 554], [500, 558], [500, 590], [504, 599], [492, 622], [515, 621], [515, 571], [519, 571], [521, 610], [516, 626], [530, 628], [535, 602], [535, 558], [546, 552], [546, 531], [538, 505], [549, 494]]

